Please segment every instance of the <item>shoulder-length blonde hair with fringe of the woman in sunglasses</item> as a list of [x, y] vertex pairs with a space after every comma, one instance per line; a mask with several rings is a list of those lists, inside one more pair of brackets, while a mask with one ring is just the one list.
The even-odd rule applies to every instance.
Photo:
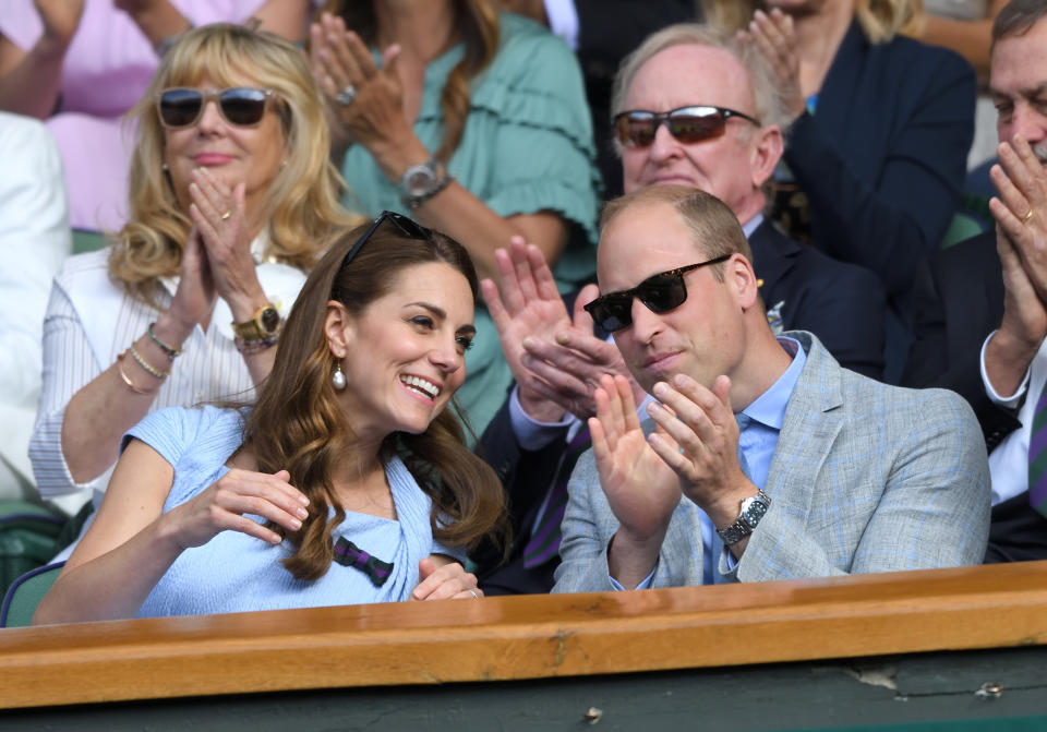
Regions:
[[287, 157], [262, 211], [268, 221], [268, 254], [306, 269], [332, 236], [359, 217], [339, 203], [345, 189], [329, 159], [330, 137], [323, 103], [301, 51], [279, 36], [216, 23], [193, 28], [168, 51], [142, 100], [128, 113], [137, 121], [129, 178], [129, 223], [112, 238], [109, 274], [133, 295], [151, 301], [157, 278], [177, 275], [190, 219], [163, 168], [165, 134], [156, 110], [159, 93], [245, 81], [273, 89]]

